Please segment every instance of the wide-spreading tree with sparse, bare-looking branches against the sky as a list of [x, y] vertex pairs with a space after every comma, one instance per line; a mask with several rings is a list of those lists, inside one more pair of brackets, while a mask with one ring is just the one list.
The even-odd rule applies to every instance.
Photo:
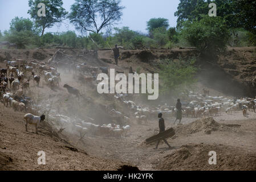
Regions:
[[[81, 32], [90, 31], [96, 34], [121, 19], [120, 0], [76, 0], [68, 15], [70, 22]], [[100, 20], [97, 19], [99, 15]]]

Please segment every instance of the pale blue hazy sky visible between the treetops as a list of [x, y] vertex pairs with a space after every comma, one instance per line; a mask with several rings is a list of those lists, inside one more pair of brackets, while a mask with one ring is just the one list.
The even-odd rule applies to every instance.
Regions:
[[[75, 0], [63, 0], [63, 7], [70, 12]], [[151, 18], [166, 18], [170, 27], [176, 27], [177, 11], [180, 0], [121, 0], [125, 6], [123, 16], [114, 27], [129, 27], [131, 30], [147, 33], [147, 21]], [[11, 19], [15, 16], [30, 18], [28, 0], [0, 0], [0, 30], [9, 30]], [[66, 20], [64, 23], [47, 28], [46, 32], [75, 31], [75, 27]], [[77, 32], [77, 31], [76, 31]], [[79, 33], [79, 32], [77, 32]]]

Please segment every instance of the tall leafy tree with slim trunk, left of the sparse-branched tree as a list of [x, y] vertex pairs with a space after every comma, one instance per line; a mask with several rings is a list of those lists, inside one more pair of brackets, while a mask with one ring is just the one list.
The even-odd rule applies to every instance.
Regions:
[[[38, 16], [39, 3], [46, 5], [46, 16]], [[43, 36], [46, 28], [51, 28], [55, 23], [63, 22], [68, 13], [62, 6], [62, 0], [29, 0], [30, 10], [27, 13], [34, 20], [35, 26], [42, 28], [41, 36]]]

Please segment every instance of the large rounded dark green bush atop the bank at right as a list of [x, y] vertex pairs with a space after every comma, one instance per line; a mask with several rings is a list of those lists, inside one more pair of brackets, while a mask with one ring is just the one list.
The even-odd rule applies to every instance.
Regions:
[[185, 22], [181, 34], [191, 46], [197, 47], [204, 53], [224, 51], [229, 39], [229, 31], [224, 20], [221, 17], [208, 15], [193, 23]]

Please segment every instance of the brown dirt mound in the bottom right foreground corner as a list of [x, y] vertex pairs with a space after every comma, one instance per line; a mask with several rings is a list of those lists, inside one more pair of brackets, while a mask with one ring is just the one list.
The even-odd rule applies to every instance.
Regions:
[[[208, 162], [210, 151], [216, 151], [216, 165]], [[157, 163], [160, 170], [255, 170], [256, 154], [229, 146], [186, 144]]]

